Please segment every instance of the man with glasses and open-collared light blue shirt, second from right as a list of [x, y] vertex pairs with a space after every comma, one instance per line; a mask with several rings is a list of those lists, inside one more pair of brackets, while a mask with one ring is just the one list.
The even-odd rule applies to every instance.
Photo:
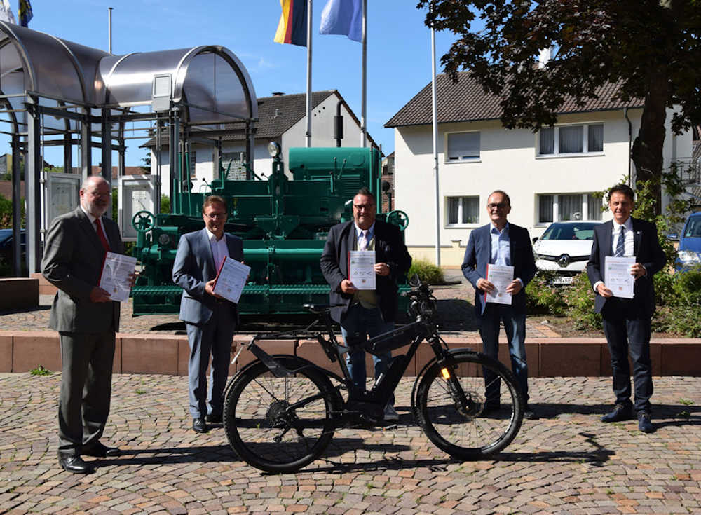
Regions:
[[[486, 212], [490, 224], [470, 233], [468, 247], [463, 259], [463, 275], [475, 287], [475, 312], [482, 337], [484, 354], [498, 358], [499, 323], [504, 322], [506, 338], [509, 341], [511, 368], [526, 401], [526, 418], [535, 418], [528, 404], [528, 365], [526, 364], [526, 286], [536, 275], [536, 261], [528, 231], [509, 224], [507, 216], [511, 212], [509, 195], [497, 190], [487, 198]], [[494, 284], [486, 280], [488, 264], [514, 267], [514, 279], [506, 288], [512, 295], [511, 304], [486, 302], [484, 295], [494, 291]], [[485, 406], [484, 413], [499, 409], [501, 381], [484, 371]]]

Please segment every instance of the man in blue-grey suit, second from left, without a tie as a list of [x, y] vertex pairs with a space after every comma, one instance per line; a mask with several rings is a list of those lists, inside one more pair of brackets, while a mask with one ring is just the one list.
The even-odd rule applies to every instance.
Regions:
[[[173, 263], [173, 282], [182, 287], [180, 320], [190, 344], [188, 363], [192, 428], [207, 432], [207, 422], [222, 423], [224, 387], [229, 376], [231, 342], [238, 322], [236, 304], [214, 293], [217, 273], [226, 257], [243, 260], [243, 242], [225, 234], [226, 202], [211, 195], [202, 206], [205, 228], [182, 235]], [[212, 355], [210, 410], [207, 413], [207, 364]]]

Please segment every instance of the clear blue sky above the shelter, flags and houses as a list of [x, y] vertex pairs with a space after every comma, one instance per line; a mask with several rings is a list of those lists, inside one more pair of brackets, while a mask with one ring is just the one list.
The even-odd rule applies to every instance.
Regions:
[[[17, 16], [17, 1], [11, 0]], [[360, 43], [346, 36], [320, 35], [326, 0], [313, 5], [313, 90], [337, 89], [360, 118]], [[430, 31], [415, 0], [368, 0], [367, 125], [369, 134], [394, 150], [394, 131], [383, 128], [431, 79]], [[273, 43], [279, 0], [102, 1], [32, 0], [29, 28], [107, 50], [107, 8], [112, 11], [112, 51], [130, 52], [222, 45], [243, 61], [259, 97], [274, 91], [306, 90], [306, 48]], [[437, 34], [437, 66], [453, 37]], [[344, 144], [348, 144], [345, 142]], [[354, 143], [355, 144], [355, 143]], [[9, 151], [9, 145], [4, 144]], [[144, 151], [131, 145], [127, 165], [139, 165]], [[47, 155], [60, 165], [60, 157]]]

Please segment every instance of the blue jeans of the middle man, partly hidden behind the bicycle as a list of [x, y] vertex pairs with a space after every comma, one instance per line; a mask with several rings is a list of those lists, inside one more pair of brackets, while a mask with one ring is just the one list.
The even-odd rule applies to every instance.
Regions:
[[[379, 308], [365, 309], [360, 304], [352, 305], [348, 308], [346, 317], [341, 321], [341, 334], [351, 351], [346, 356], [348, 371], [351, 373], [353, 385], [361, 392], [365, 391], [367, 373], [365, 371], [365, 351], [358, 348], [369, 336], [377, 336], [394, 329], [394, 322], [385, 322]], [[355, 348], [354, 348], [355, 347]], [[392, 359], [392, 353], [386, 352], [379, 356], [372, 356], [375, 369], [375, 379], [379, 378]], [[394, 395], [390, 399], [390, 404], [394, 404]]]

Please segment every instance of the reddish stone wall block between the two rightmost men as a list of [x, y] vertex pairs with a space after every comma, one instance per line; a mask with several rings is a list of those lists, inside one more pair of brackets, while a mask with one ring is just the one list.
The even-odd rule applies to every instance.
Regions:
[[[554, 339], [554, 338], [553, 338]], [[604, 343], [599, 340], [571, 343], [561, 341], [540, 342], [539, 377], [599, 376], [601, 373], [601, 352]], [[526, 355], [527, 355], [526, 350]], [[530, 369], [529, 369], [530, 371]], [[535, 374], [531, 374], [535, 377]]]

